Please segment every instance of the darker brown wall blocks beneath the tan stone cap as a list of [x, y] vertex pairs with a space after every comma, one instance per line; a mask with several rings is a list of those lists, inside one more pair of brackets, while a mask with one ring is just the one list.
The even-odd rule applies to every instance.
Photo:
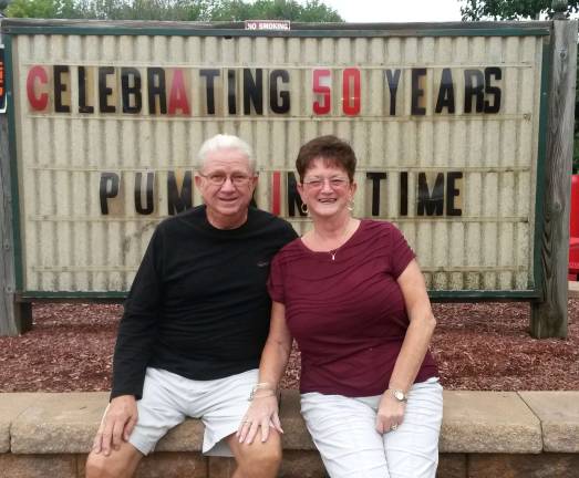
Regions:
[[[86, 455], [0, 454], [0, 476], [10, 478], [86, 478]], [[441, 454], [436, 478], [577, 478], [578, 454]], [[198, 451], [154, 453], [134, 478], [234, 478], [231, 458]], [[328, 478], [316, 451], [286, 450], [279, 478]]]

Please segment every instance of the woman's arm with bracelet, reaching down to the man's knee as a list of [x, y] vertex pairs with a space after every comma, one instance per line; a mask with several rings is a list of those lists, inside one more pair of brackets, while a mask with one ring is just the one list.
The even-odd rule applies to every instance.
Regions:
[[277, 391], [288, 364], [291, 342], [292, 337], [286, 323], [286, 306], [273, 302], [269, 335], [259, 364], [259, 384], [254, 389], [251, 405], [237, 430], [240, 443], [252, 443], [259, 427], [261, 427], [261, 441], [268, 439], [270, 425], [279, 433], [283, 433], [278, 414]]

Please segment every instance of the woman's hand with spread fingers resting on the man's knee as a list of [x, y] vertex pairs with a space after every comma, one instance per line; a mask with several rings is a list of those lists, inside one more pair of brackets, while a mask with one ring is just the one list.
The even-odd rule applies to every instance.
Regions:
[[239, 424], [236, 436], [239, 438], [239, 443], [251, 444], [258, 433], [258, 428], [261, 428], [261, 441], [263, 443], [269, 437], [270, 426], [280, 434], [283, 433], [278, 414], [278, 398], [276, 394], [257, 395], [251, 401], [244, 420]]

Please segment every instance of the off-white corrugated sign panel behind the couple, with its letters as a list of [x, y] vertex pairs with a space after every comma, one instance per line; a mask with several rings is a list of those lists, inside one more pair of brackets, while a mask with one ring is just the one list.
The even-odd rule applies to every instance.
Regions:
[[354, 215], [397, 224], [431, 289], [534, 287], [539, 37], [38, 34], [12, 45], [27, 291], [127, 290], [169, 214], [167, 184], [180, 188], [220, 132], [255, 147], [258, 205], [299, 232], [297, 152], [335, 134], [359, 158]]

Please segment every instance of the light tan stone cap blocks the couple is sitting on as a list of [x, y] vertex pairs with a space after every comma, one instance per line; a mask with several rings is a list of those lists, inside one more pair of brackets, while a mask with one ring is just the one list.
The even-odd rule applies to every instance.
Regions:
[[[579, 392], [444, 393], [441, 453], [579, 453]], [[0, 394], [0, 453], [86, 454], [107, 393]], [[283, 391], [286, 450], [313, 450], [299, 414], [297, 391]], [[158, 451], [199, 451], [203, 426], [188, 419], [163, 438]]]

